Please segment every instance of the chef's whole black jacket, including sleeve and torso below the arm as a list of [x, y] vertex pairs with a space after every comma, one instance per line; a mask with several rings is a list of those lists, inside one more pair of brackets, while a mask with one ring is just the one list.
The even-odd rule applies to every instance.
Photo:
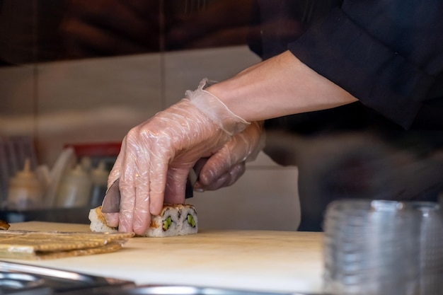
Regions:
[[[333, 199], [435, 200], [443, 192], [442, 0], [257, 0], [251, 28], [251, 50], [263, 59], [290, 50], [359, 99], [265, 121], [265, 153], [299, 168], [299, 230], [321, 230]], [[343, 134], [368, 137], [368, 147], [351, 150]], [[299, 138], [308, 139], [303, 151]], [[384, 166], [399, 155], [407, 163]]]

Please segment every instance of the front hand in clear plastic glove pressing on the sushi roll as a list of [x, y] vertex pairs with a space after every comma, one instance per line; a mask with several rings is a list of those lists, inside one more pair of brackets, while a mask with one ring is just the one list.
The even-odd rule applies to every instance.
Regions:
[[215, 154], [248, 122], [204, 90], [204, 79], [186, 98], [130, 130], [110, 172], [108, 187], [120, 178], [120, 213], [105, 214], [109, 226], [143, 234], [163, 200], [183, 203], [188, 172]]

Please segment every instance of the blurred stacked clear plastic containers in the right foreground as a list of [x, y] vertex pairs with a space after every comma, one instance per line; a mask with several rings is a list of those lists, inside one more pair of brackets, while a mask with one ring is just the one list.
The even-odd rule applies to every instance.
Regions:
[[443, 294], [437, 203], [340, 200], [325, 217], [326, 293]]

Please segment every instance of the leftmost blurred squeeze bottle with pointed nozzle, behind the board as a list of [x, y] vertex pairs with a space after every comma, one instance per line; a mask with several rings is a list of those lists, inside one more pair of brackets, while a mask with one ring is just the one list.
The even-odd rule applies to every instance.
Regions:
[[30, 170], [30, 160], [25, 159], [23, 170], [9, 179], [8, 208], [27, 210], [42, 207], [43, 186]]

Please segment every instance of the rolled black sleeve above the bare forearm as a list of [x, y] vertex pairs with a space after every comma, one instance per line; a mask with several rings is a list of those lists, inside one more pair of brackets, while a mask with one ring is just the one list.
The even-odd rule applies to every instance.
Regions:
[[443, 1], [344, 1], [288, 49], [408, 129], [443, 69]]

